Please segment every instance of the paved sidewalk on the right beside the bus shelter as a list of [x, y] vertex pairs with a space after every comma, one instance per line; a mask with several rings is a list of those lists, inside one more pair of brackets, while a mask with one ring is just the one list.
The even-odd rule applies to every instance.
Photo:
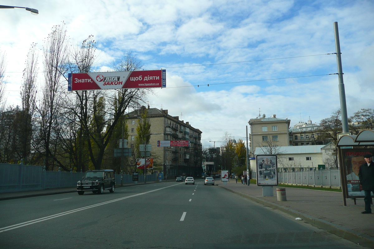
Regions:
[[262, 196], [262, 187], [253, 183], [249, 186], [235, 181], [229, 181], [227, 185], [217, 183], [219, 187], [302, 218], [344, 239], [374, 248], [374, 214], [361, 214], [365, 210], [362, 198], [356, 199], [357, 205], [352, 199], [347, 199], [347, 206], [344, 206], [340, 192], [286, 187], [287, 201], [279, 202], [276, 186], [273, 187], [274, 196]]

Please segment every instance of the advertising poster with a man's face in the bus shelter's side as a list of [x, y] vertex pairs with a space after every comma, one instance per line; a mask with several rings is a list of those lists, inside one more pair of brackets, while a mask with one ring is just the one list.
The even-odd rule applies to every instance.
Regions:
[[358, 172], [360, 166], [366, 161], [365, 154], [374, 155], [373, 149], [342, 149], [343, 166], [345, 168], [345, 175], [342, 179], [347, 185], [347, 197], [364, 197], [365, 192], [360, 184]]

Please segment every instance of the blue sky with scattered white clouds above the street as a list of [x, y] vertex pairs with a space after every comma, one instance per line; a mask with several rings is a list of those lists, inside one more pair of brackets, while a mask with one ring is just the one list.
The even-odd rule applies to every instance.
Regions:
[[[128, 50], [145, 69], [166, 68], [167, 88], [156, 89], [147, 103], [202, 130], [203, 146], [222, 141], [225, 132], [244, 138], [248, 120], [259, 112], [291, 119], [291, 125], [309, 117], [319, 122], [340, 108], [337, 75], [325, 75], [337, 72], [336, 56], [324, 55], [335, 52], [337, 21], [348, 115], [374, 108], [373, 1], [0, 0], [0, 4], [39, 10], [34, 16], [23, 9], [0, 9], [0, 50], [7, 57], [6, 89], [12, 105], [20, 104], [31, 43], [41, 48], [52, 26], [64, 21], [74, 45], [94, 36], [98, 71], [111, 70]], [[264, 60], [295, 56], [307, 57]], [[243, 62], [251, 60], [262, 61]], [[227, 62], [240, 63], [181, 67]], [[41, 56], [39, 67], [43, 71]], [[303, 77], [310, 75], [324, 76]], [[39, 76], [42, 82], [42, 73]], [[269, 80], [278, 78], [289, 79]]]

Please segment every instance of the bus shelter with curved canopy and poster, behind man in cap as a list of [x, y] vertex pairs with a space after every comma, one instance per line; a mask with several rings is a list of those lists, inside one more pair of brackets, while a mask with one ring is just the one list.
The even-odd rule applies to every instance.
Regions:
[[356, 198], [365, 196], [358, 171], [360, 165], [365, 163], [365, 154], [374, 156], [374, 130], [363, 130], [358, 135], [344, 135], [339, 138], [337, 147], [344, 206], [347, 205], [347, 198], [353, 199], [356, 204]]

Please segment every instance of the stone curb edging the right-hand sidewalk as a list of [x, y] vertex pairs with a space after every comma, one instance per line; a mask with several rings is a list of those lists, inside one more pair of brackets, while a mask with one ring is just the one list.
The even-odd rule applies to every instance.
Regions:
[[342, 237], [343, 239], [347, 239], [361, 246], [366, 246], [366, 247], [374, 249], [374, 238], [371, 236], [353, 231], [349, 228], [341, 227], [340, 225], [336, 225], [331, 222], [312, 217], [310, 215], [303, 214], [301, 212], [295, 211], [290, 208], [286, 208], [284, 206], [275, 204], [273, 202], [268, 202], [266, 200], [263, 200], [263, 199], [260, 199], [254, 196], [249, 196], [248, 194], [244, 194], [244, 193], [240, 193], [235, 190], [232, 190], [232, 189], [228, 189], [221, 185], [218, 185], [218, 186], [232, 193], [245, 197], [247, 199], [251, 199], [263, 205], [270, 206], [271, 208], [278, 209], [286, 214], [292, 215], [294, 217], [300, 217], [304, 221], [308, 222], [309, 224], [315, 225], [316, 227], [329, 231], [330, 233], [333, 233], [339, 237]]

